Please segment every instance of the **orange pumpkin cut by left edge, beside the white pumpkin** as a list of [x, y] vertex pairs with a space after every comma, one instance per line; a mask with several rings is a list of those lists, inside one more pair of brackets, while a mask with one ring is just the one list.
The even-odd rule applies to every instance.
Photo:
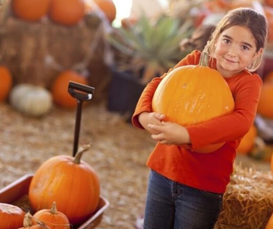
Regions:
[[3, 101], [8, 96], [12, 86], [11, 73], [5, 66], [0, 66], [0, 82], [0, 101]]

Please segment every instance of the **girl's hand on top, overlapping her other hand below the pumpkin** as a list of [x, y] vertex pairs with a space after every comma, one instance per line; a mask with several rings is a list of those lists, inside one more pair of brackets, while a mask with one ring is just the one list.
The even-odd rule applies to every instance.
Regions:
[[177, 123], [161, 122], [161, 125], [148, 124], [148, 127], [157, 134], [152, 135], [152, 139], [159, 141], [161, 144], [180, 145], [190, 144], [190, 136], [188, 130]]

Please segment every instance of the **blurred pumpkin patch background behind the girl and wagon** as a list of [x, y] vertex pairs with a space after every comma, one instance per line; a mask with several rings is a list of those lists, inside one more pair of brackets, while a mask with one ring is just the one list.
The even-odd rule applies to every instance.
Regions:
[[[236, 163], [270, 171], [273, 151], [272, 0], [1, 0], [0, 188], [48, 158], [71, 155], [77, 101], [70, 80], [95, 87], [84, 102], [83, 160], [110, 206], [98, 228], [134, 228], [143, 212], [150, 135], [130, 119], [148, 82], [191, 51], [202, 51], [228, 10], [265, 15], [268, 38], [255, 123]], [[141, 224], [141, 223], [140, 223]]]

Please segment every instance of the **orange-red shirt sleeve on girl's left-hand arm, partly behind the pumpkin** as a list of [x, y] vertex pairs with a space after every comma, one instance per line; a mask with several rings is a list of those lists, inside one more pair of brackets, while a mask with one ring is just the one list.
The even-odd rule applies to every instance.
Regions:
[[169, 69], [167, 73], [165, 73], [161, 77], [153, 78], [150, 83], [147, 84], [147, 86], [144, 88], [139, 101], [137, 103], [136, 109], [134, 111], [134, 114], [132, 116], [132, 124], [135, 127], [143, 129], [143, 126], [139, 123], [138, 116], [140, 113], [147, 111], [152, 112], [152, 98], [154, 96], [155, 90], [157, 89], [157, 86], [161, 82], [161, 80], [173, 69], [185, 65], [197, 65], [199, 63], [201, 56], [201, 52], [198, 50], [192, 51], [190, 54], [188, 54], [185, 58], [183, 58], [175, 67]]

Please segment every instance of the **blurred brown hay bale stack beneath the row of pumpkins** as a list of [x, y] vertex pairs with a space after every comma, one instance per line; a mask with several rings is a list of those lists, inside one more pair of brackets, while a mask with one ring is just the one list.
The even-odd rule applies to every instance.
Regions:
[[[111, 78], [105, 42], [105, 21], [96, 12], [86, 15], [75, 26], [63, 26], [44, 17], [28, 22], [15, 17], [11, 1], [0, 12], [0, 58], [14, 78], [14, 83], [32, 83], [50, 89], [63, 70], [84, 73], [96, 87], [96, 98], [106, 92]], [[110, 25], [108, 24], [110, 27]], [[109, 57], [108, 57], [109, 59]]]

